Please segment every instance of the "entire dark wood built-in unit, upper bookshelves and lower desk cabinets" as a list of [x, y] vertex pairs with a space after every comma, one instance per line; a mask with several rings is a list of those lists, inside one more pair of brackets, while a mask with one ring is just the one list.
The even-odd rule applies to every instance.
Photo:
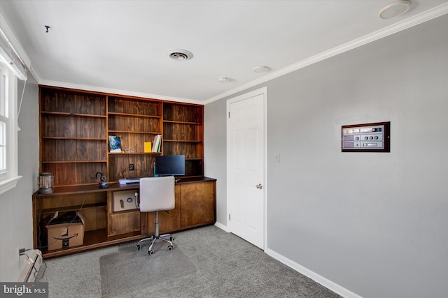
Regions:
[[[160, 232], [216, 222], [216, 179], [204, 177], [202, 105], [49, 86], [40, 86], [39, 102], [39, 170], [55, 177], [53, 193], [33, 194], [34, 248], [44, 258], [153, 233], [155, 214], [114, 211], [113, 196], [138, 192], [138, 185], [120, 186], [118, 179], [152, 177], [159, 155], [186, 156], [186, 176], [176, 182], [176, 208], [160, 214]], [[145, 142], [153, 143], [156, 135], [162, 135], [160, 151], [146, 152]], [[109, 151], [109, 136], [120, 137], [122, 152]], [[107, 177], [108, 188], [99, 188], [97, 172]], [[46, 225], [56, 212], [67, 211], [85, 217], [83, 245], [48, 250]]]

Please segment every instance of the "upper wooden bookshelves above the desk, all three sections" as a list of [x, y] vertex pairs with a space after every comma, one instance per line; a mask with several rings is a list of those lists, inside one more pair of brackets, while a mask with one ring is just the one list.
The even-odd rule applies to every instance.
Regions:
[[[96, 184], [97, 172], [110, 182], [153, 176], [157, 155], [183, 154], [186, 177], [204, 175], [202, 105], [41, 86], [40, 113], [40, 171], [56, 187]], [[109, 152], [111, 135], [123, 153]], [[160, 152], [145, 152], [155, 135]]]

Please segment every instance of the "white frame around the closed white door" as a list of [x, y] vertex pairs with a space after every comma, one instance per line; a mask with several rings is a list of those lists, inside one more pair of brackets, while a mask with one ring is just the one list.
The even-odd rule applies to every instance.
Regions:
[[264, 204], [264, 214], [263, 214], [263, 239], [264, 239], [264, 244], [263, 244], [263, 246], [264, 246], [264, 251], [266, 251], [267, 250], [267, 87], [262, 87], [262, 88], [260, 88], [260, 89], [256, 89], [256, 90], [253, 90], [253, 91], [250, 91], [250, 92], [248, 92], [248, 93], [246, 93], [246, 94], [241, 94], [240, 96], [236, 96], [236, 97], [234, 97], [234, 98], [230, 98], [230, 99], [228, 99], [227, 100], [227, 103], [226, 103], [226, 107], [227, 107], [227, 110], [226, 110], [226, 116], [227, 116], [227, 121], [226, 121], [226, 124], [227, 124], [227, 127], [226, 127], [226, 133], [227, 133], [227, 161], [226, 161], [226, 179], [227, 179], [227, 181], [228, 181], [228, 183], [227, 183], [227, 189], [226, 189], [226, 192], [227, 192], [227, 198], [226, 198], [226, 200], [227, 200], [227, 214], [226, 214], [226, 218], [225, 218], [225, 220], [226, 220], [226, 222], [227, 222], [227, 225], [226, 225], [226, 230], [227, 230], [227, 232], [230, 232], [230, 225], [231, 225], [231, 223], [230, 223], [230, 221], [229, 221], [229, 214], [230, 214], [230, 209], [231, 209], [231, 200], [230, 200], [230, 198], [229, 198], [229, 194], [230, 194], [230, 121], [229, 121], [229, 113], [230, 113], [230, 105], [232, 104], [232, 103], [236, 103], [237, 101], [241, 101], [241, 100], [245, 100], [245, 99], [248, 99], [248, 98], [252, 98], [252, 97], [254, 97], [254, 96], [258, 96], [258, 95], [263, 95], [263, 111], [264, 111], [264, 114], [263, 114], [263, 123], [264, 123], [264, 127], [263, 127], [263, 130], [264, 130], [264, 135], [263, 135], [263, 138], [264, 138], [264, 140], [263, 140], [263, 154], [264, 154], [264, 158], [263, 158], [263, 163], [264, 163], [264, 166], [263, 166], [263, 188], [262, 188], [262, 191], [263, 191], [263, 200], [264, 200], [264, 202], [263, 202], [263, 204]]

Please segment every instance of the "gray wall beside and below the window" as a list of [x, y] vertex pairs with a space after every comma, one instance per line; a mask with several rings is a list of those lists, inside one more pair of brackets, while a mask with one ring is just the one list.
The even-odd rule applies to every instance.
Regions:
[[[23, 82], [18, 81], [18, 97]], [[18, 246], [33, 248], [31, 195], [37, 190], [39, 133], [38, 86], [29, 78], [20, 110], [18, 132], [18, 172], [23, 176], [15, 188], [0, 198], [0, 281], [17, 281], [25, 266]]]

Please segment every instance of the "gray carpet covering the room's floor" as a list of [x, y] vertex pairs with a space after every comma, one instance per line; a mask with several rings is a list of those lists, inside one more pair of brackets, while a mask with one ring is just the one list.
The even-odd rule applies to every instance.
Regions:
[[[214, 225], [173, 236], [173, 251], [158, 244], [151, 256], [147, 245], [134, 251], [132, 243], [47, 260], [41, 281], [49, 282], [50, 298], [339, 297]], [[146, 281], [132, 284], [140, 276]], [[113, 285], [123, 284], [119, 278], [129, 283]]]

